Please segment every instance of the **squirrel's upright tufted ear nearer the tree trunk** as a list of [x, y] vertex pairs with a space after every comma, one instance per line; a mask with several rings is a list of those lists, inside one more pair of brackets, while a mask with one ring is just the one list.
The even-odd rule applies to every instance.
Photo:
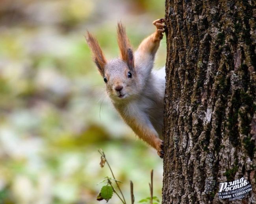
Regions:
[[117, 42], [121, 53], [121, 59], [128, 64], [130, 70], [134, 71], [134, 53], [126, 31], [121, 22], [117, 24]]

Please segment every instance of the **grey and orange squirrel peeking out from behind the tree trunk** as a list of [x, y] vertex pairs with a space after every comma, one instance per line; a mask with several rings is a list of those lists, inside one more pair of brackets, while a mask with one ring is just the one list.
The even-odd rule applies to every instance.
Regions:
[[152, 70], [154, 58], [166, 26], [163, 18], [153, 22], [156, 31], [145, 38], [134, 52], [121, 22], [117, 24], [120, 58], [107, 61], [96, 38], [87, 31], [93, 60], [106, 84], [106, 91], [122, 119], [139, 138], [163, 158], [163, 97], [165, 67]]

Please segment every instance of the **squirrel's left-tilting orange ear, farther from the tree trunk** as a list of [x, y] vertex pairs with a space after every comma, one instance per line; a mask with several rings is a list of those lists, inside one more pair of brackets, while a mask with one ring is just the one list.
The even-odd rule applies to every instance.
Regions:
[[95, 37], [87, 31], [87, 35], [85, 36], [86, 42], [93, 52], [93, 60], [100, 71], [100, 74], [104, 77], [104, 66], [107, 64], [107, 60], [98, 44], [98, 41]]

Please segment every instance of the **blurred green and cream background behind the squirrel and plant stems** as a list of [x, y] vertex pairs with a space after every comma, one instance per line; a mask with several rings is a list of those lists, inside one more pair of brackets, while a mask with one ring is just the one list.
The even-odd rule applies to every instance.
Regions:
[[[139, 42], [164, 16], [164, 0], [0, 1], [0, 203], [96, 204], [108, 168], [130, 203], [161, 198], [162, 160], [122, 122], [91, 60], [86, 29], [107, 58], [119, 55], [116, 25]], [[165, 65], [165, 38], [156, 67]], [[97, 185], [98, 184], [98, 185]], [[120, 204], [117, 196], [110, 204]]]

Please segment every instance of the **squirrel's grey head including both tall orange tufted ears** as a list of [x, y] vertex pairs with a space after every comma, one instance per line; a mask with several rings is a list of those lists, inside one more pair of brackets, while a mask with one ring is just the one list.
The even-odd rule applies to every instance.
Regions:
[[138, 95], [134, 67], [134, 52], [121, 22], [117, 24], [117, 41], [120, 58], [107, 61], [95, 37], [87, 31], [86, 41], [93, 53], [93, 60], [103, 77], [109, 97], [115, 101]]

